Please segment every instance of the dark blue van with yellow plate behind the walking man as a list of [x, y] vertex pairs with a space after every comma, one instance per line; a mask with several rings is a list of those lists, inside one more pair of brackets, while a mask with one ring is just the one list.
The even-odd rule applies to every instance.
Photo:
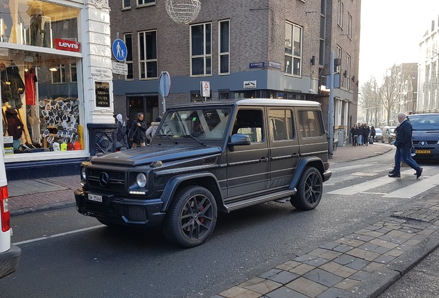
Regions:
[[439, 114], [409, 115], [416, 159], [439, 160]]

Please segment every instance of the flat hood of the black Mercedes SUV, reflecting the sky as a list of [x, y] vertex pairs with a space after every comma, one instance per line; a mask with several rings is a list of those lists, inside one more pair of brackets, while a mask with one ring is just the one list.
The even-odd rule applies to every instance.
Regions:
[[137, 147], [130, 150], [111, 153], [92, 159], [92, 163], [117, 164], [124, 166], [143, 166], [153, 161], [173, 161], [199, 156], [216, 155], [221, 153], [218, 146], [202, 147], [184, 144], [162, 144]]

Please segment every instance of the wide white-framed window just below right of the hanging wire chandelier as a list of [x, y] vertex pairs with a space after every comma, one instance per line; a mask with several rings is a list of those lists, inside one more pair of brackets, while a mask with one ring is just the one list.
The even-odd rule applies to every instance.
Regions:
[[191, 26], [191, 76], [212, 74], [212, 24]]

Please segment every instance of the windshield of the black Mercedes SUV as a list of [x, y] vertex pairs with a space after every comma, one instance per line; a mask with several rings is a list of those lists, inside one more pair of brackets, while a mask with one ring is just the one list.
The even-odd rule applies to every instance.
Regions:
[[156, 137], [170, 136], [177, 139], [190, 135], [197, 139], [222, 139], [230, 113], [230, 108], [197, 108], [169, 112], [161, 121]]

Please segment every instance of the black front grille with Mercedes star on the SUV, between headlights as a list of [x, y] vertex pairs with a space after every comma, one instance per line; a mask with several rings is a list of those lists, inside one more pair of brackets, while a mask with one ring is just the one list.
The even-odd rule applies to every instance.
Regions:
[[125, 173], [92, 169], [88, 172], [87, 184], [105, 191], [125, 190]]

